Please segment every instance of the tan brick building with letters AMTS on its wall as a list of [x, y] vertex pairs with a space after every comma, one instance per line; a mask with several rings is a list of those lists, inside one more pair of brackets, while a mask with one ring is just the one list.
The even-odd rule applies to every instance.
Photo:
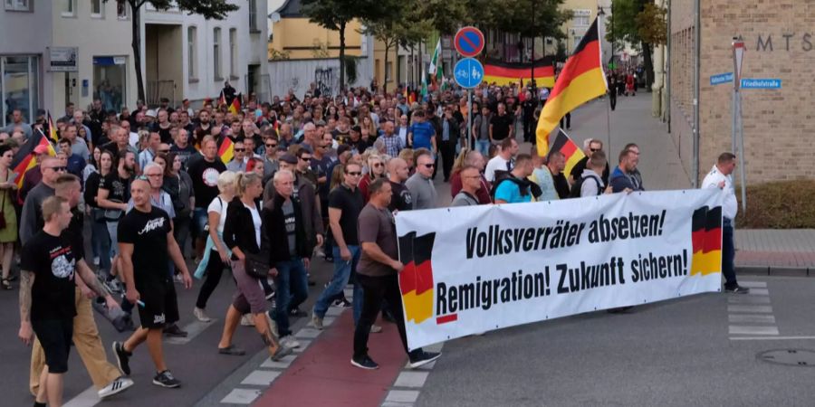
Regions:
[[[699, 95], [700, 175], [715, 158], [732, 151], [731, 82], [713, 85], [711, 76], [733, 71], [733, 37], [742, 36], [744, 79], [779, 79], [781, 89], [743, 89], [745, 166], [749, 183], [815, 177], [805, 157], [815, 155], [812, 58], [815, 9], [806, 0], [745, 5], [736, 0], [701, 3]], [[670, 123], [683, 165], [692, 174], [694, 3], [671, 1]]]

